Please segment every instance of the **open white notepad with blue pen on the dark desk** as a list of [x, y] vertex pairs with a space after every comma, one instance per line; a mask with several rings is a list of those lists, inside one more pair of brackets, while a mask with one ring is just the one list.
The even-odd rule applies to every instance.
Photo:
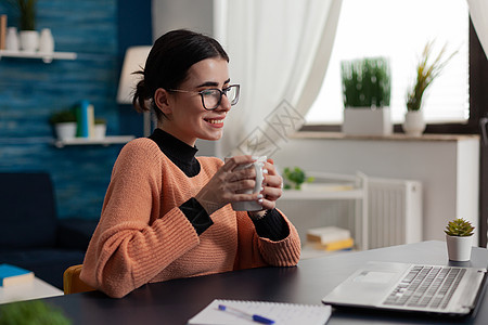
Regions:
[[[219, 309], [224, 306], [229, 311]], [[236, 312], [234, 312], [236, 311]], [[241, 315], [242, 314], [242, 315]], [[258, 324], [249, 321], [248, 315], [259, 315], [282, 325], [323, 325], [331, 316], [331, 307], [326, 304], [298, 304], [269, 301], [245, 301], [215, 299], [193, 316], [190, 325], [244, 325]]]

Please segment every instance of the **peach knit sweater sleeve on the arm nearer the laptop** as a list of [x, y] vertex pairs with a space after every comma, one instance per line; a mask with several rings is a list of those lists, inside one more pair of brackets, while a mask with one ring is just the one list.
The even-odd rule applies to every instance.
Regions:
[[277, 211], [281, 213], [288, 227], [288, 235], [277, 242], [260, 237], [247, 213], [237, 212], [239, 246], [234, 270], [266, 265], [294, 266], [298, 263], [300, 258], [298, 233], [290, 220], [280, 210]]

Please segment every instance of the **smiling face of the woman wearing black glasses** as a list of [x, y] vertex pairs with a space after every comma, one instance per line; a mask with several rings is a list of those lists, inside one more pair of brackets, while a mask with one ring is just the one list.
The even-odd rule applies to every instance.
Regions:
[[191, 92], [167, 92], [168, 117], [159, 126], [179, 140], [194, 145], [196, 139], [219, 140], [222, 136], [223, 120], [231, 105], [222, 95], [220, 105], [214, 110], [203, 107], [198, 91], [220, 89], [229, 86], [229, 67], [220, 57], [206, 58], [195, 63], [188, 70], [187, 79], [179, 90]]

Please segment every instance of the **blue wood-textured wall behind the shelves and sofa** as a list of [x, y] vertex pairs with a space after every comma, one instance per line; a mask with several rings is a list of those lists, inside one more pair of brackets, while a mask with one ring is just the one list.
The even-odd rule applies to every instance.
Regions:
[[[11, 8], [0, 4], [0, 13], [16, 26]], [[107, 133], [120, 133], [117, 1], [38, 0], [37, 13], [37, 29], [51, 28], [56, 51], [76, 52], [78, 58], [0, 60], [0, 171], [48, 171], [60, 218], [98, 219], [121, 145], [56, 148], [48, 119], [86, 99], [95, 116], [107, 120]]]

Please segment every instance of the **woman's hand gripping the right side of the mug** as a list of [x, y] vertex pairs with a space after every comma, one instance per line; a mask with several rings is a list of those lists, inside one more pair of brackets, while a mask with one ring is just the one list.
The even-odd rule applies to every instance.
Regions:
[[272, 159], [268, 159], [268, 161], [265, 162], [264, 171], [265, 170], [261, 191], [262, 198], [259, 200], [259, 204], [265, 211], [249, 212], [253, 218], [260, 218], [265, 214], [266, 210], [274, 209], [277, 207], [277, 199], [283, 194], [283, 179], [277, 172]]

